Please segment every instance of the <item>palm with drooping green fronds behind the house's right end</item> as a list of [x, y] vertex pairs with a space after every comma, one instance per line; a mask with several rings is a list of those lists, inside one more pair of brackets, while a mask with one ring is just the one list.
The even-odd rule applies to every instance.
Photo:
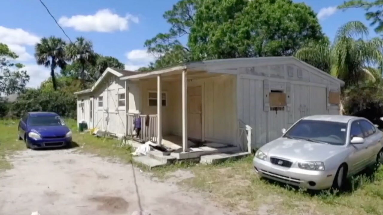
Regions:
[[346, 87], [365, 79], [375, 80], [382, 76], [383, 40], [363, 40], [367, 36], [363, 23], [351, 21], [338, 29], [332, 45], [303, 47], [295, 56], [345, 81]]

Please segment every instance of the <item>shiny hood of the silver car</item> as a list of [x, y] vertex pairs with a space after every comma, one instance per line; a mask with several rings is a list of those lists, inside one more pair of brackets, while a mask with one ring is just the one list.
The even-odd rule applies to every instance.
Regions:
[[324, 161], [346, 148], [339, 145], [280, 137], [265, 144], [260, 150], [268, 157], [275, 156], [291, 161]]

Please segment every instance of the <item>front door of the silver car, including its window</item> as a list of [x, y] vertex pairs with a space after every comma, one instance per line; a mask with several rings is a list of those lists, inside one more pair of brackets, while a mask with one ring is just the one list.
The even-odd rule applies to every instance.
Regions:
[[[350, 140], [353, 137], [363, 137], [363, 130], [359, 121], [352, 122], [351, 124]], [[354, 174], [364, 168], [370, 154], [368, 153], [366, 142], [362, 144], [349, 144], [349, 149], [349, 171]]]

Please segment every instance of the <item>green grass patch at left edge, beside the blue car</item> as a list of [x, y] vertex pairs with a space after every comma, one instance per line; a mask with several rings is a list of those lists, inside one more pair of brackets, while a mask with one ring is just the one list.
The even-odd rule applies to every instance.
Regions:
[[0, 120], [0, 171], [12, 167], [8, 156], [25, 149], [24, 142], [17, 138], [17, 125], [18, 120]]

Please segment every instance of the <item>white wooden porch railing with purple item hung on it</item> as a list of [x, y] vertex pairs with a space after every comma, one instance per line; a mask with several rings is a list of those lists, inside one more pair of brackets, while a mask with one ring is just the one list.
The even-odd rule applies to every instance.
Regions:
[[[134, 120], [136, 117], [141, 119], [141, 132], [139, 139], [146, 141], [157, 142], [157, 115], [143, 115], [143, 114], [126, 114], [126, 134], [128, 136], [136, 137], [136, 131], [134, 130]], [[149, 117], [149, 124], [146, 125], [146, 118]]]

